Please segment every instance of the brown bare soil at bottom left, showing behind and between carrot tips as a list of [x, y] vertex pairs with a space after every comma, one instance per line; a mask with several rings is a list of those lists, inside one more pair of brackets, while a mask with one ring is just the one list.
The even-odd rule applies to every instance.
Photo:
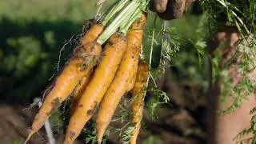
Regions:
[[[25, 106], [13, 106], [0, 104], [0, 144], [8, 142], [24, 142], [30, 133], [30, 126], [34, 115], [38, 112], [37, 108], [26, 110]], [[64, 139], [63, 130], [54, 135], [56, 144], [62, 144]], [[29, 144], [46, 144], [46, 132], [42, 128], [38, 133], [34, 134]], [[81, 142], [74, 142], [79, 144]]]

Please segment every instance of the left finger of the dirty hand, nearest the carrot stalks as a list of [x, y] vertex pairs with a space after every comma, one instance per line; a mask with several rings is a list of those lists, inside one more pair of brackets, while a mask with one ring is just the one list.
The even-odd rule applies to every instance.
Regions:
[[166, 11], [167, 2], [168, 0], [151, 0], [150, 10], [157, 13], [162, 13]]

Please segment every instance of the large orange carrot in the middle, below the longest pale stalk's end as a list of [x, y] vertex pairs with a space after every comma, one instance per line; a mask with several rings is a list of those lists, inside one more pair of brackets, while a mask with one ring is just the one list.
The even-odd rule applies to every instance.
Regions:
[[97, 110], [98, 103], [101, 102], [103, 95], [114, 78], [116, 70], [118, 70], [126, 45], [126, 37], [119, 33], [113, 34], [106, 43], [102, 61], [96, 68], [93, 78], [86, 87], [74, 114], [70, 118], [69, 126], [66, 130], [65, 144], [74, 142], [83, 126]]

